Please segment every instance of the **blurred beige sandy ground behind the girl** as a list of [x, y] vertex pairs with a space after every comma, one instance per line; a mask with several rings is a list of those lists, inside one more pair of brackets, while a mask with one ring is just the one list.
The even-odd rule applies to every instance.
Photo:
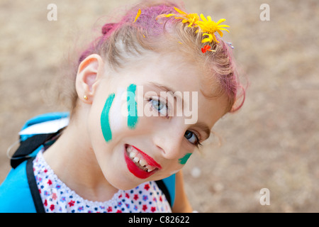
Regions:
[[[0, 1], [0, 182], [10, 170], [6, 150], [23, 123], [67, 110], [55, 102], [54, 84], [79, 40], [91, 40], [99, 18], [135, 2]], [[57, 21], [47, 20], [50, 3], [57, 5]], [[214, 128], [221, 145], [214, 140], [184, 167], [194, 209], [318, 212], [319, 1], [184, 3], [189, 12], [227, 19], [225, 40], [235, 45], [250, 82], [243, 108]], [[270, 21], [259, 18], [264, 3]], [[269, 206], [259, 203], [262, 188], [269, 189]]]

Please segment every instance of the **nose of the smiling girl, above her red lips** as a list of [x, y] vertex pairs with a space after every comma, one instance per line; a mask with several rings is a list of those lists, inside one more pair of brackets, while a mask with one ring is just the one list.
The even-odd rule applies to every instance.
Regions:
[[153, 143], [159, 148], [162, 156], [167, 159], [178, 158], [184, 139], [184, 128], [171, 125], [158, 130], [153, 137]]

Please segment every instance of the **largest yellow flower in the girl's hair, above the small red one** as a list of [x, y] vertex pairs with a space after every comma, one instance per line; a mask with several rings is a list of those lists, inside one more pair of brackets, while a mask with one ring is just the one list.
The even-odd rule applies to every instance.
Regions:
[[[226, 21], [226, 19], [220, 19], [216, 23], [215, 21], [211, 20], [211, 16], [207, 16], [207, 19], [206, 19], [205, 16], [203, 16], [203, 14], [201, 14], [201, 19], [202, 21], [197, 21], [196, 25], [199, 28], [201, 28], [201, 32], [203, 32], [203, 36], [208, 35], [208, 38], [204, 38], [201, 41], [201, 43], [206, 43], [206, 42], [211, 43], [213, 41], [215, 41], [215, 43], [219, 43], [214, 33], [218, 32], [220, 37], [223, 37], [222, 31], [227, 31], [229, 33], [229, 31], [226, 29], [226, 28], [229, 28], [229, 26], [220, 25], [220, 23], [223, 23], [224, 21]], [[196, 33], [198, 33], [199, 31], [200, 29], [198, 29]]]

